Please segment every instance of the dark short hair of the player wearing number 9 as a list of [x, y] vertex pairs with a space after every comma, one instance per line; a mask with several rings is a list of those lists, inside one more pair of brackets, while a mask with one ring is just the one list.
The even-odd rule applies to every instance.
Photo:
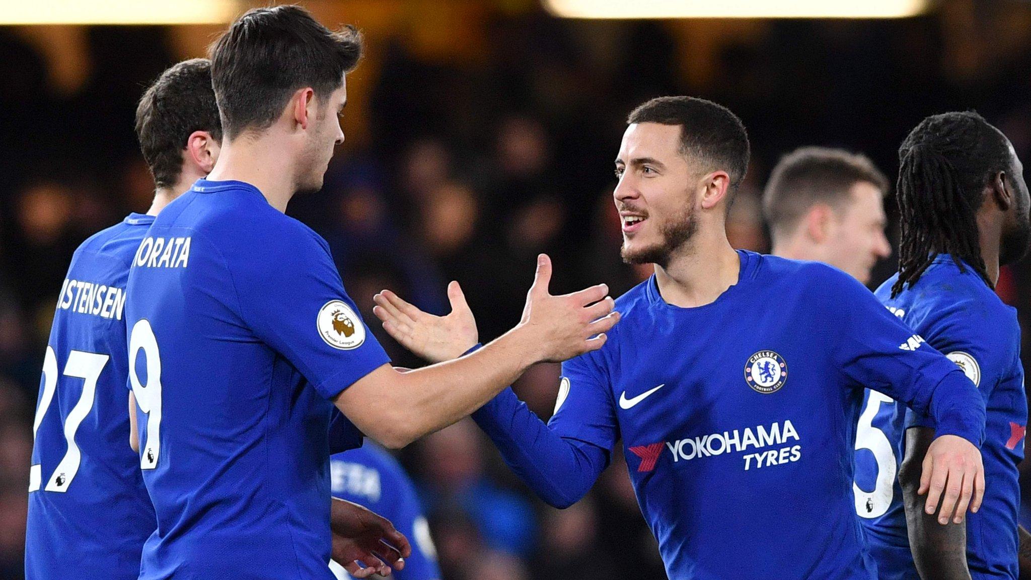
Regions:
[[211, 46], [226, 136], [267, 129], [298, 89], [329, 96], [361, 56], [362, 36], [353, 26], [332, 32], [296, 5], [247, 11]]

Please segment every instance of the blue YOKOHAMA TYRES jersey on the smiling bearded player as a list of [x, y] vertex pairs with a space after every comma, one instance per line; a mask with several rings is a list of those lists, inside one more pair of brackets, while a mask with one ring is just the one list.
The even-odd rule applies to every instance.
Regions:
[[670, 578], [872, 579], [852, 491], [863, 387], [974, 444], [984, 407], [851, 277], [738, 254], [711, 303], [669, 304], [655, 277], [618, 299], [606, 344], [563, 364], [548, 427], [603, 450], [622, 438]]

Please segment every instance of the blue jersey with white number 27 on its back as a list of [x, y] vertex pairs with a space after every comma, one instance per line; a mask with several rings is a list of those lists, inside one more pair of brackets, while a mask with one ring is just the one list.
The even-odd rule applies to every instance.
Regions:
[[135, 580], [154, 508], [129, 446], [126, 279], [154, 221], [132, 214], [82, 243], [58, 297], [33, 422], [29, 580]]

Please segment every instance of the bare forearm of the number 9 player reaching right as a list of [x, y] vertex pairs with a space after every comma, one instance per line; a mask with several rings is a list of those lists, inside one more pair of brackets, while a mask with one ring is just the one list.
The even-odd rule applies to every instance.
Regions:
[[374, 382], [375, 392], [356, 383], [337, 407], [365, 434], [396, 449], [468, 416], [540, 359], [517, 327], [468, 356], [408, 373], [385, 369], [391, 375]]

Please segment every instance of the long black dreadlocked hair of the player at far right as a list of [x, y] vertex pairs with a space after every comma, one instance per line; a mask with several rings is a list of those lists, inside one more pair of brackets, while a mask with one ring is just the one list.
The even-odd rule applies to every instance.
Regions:
[[896, 186], [902, 243], [893, 298], [939, 254], [952, 256], [960, 271], [968, 264], [995, 287], [980, 255], [976, 215], [997, 171], [1010, 171], [1006, 139], [973, 111], [928, 117], [902, 141]]

